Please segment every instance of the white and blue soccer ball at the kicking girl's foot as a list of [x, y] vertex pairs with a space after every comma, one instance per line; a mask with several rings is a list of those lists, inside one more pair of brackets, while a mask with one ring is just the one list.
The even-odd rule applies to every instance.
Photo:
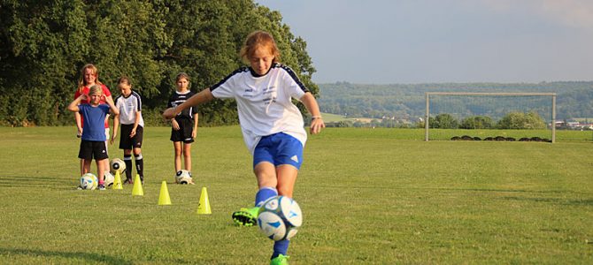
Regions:
[[259, 208], [258, 226], [268, 239], [290, 239], [303, 224], [303, 212], [297, 201], [285, 196], [276, 196]]

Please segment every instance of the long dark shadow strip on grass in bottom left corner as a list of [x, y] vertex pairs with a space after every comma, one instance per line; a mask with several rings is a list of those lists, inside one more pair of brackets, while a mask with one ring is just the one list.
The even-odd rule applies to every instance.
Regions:
[[106, 264], [133, 264], [131, 261], [126, 261], [120, 258], [104, 255], [104, 254], [93, 254], [93, 253], [82, 253], [82, 252], [60, 252], [60, 251], [42, 251], [42, 250], [31, 250], [31, 249], [9, 249], [0, 248], [1, 255], [26, 255], [35, 257], [61, 257], [65, 259], [80, 259], [83, 261], [96, 261], [104, 262]]

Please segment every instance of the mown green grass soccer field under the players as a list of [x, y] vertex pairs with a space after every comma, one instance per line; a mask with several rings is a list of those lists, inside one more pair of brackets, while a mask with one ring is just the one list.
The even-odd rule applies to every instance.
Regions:
[[[266, 264], [272, 241], [230, 220], [256, 192], [240, 129], [199, 129], [196, 186], [173, 185], [169, 130], [146, 128], [144, 196], [132, 196], [75, 189], [73, 127], [0, 128], [0, 264]], [[421, 129], [327, 128], [305, 147], [290, 263], [591, 264], [591, 133], [557, 133], [425, 142]], [[158, 206], [163, 180], [173, 205]], [[203, 186], [212, 215], [196, 214]]]

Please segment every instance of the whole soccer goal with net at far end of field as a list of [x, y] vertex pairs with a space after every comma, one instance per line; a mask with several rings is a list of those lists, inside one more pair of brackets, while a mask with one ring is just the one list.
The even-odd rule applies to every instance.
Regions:
[[553, 143], [556, 141], [556, 93], [427, 92], [423, 122], [426, 141]]

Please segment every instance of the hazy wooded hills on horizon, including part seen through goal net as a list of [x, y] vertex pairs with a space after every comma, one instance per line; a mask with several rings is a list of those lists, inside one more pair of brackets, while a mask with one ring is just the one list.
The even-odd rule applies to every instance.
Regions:
[[[396, 117], [415, 121], [426, 112], [426, 92], [489, 92], [489, 93], [556, 93], [557, 120], [572, 117], [593, 117], [593, 81], [542, 82], [537, 84], [518, 83], [438, 83], [438, 84], [391, 84], [368, 85], [336, 82], [320, 84], [321, 111], [346, 117], [369, 117], [382, 119]], [[443, 97], [442, 97], [443, 98]], [[539, 99], [548, 101], [549, 98]], [[433, 104], [435, 103], [435, 104]], [[530, 106], [528, 106], [528, 103]], [[489, 110], [484, 106], [489, 105]], [[532, 102], [525, 97], [508, 97], [497, 102], [491, 99], [461, 98], [446, 102], [431, 99], [431, 115], [438, 113], [460, 113], [464, 116], [489, 116], [499, 119], [513, 108], [532, 108], [540, 116], [551, 113], [550, 102]], [[483, 113], [482, 113], [483, 112]]]

